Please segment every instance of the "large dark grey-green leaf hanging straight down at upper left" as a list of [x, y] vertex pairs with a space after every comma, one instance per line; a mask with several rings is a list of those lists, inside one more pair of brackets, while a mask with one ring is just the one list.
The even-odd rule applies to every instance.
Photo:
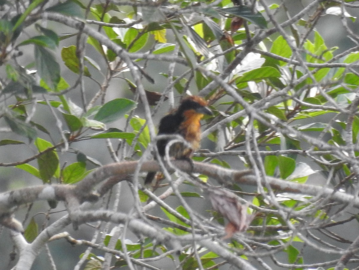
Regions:
[[52, 89], [56, 89], [60, 81], [60, 65], [50, 51], [35, 45], [35, 61], [40, 77]]

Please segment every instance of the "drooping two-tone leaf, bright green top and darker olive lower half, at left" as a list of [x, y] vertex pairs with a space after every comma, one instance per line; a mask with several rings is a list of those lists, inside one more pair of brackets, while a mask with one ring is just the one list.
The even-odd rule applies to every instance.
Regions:
[[[46, 149], [53, 147], [51, 142], [45, 141], [41, 138], [37, 138], [35, 140], [35, 146], [37, 147], [39, 152], [43, 152]], [[40, 177], [44, 183], [49, 183], [51, 177], [55, 174], [56, 176], [59, 176], [59, 156], [57, 156], [55, 150], [47, 151], [41, 154], [37, 158], [37, 164], [39, 166]]]

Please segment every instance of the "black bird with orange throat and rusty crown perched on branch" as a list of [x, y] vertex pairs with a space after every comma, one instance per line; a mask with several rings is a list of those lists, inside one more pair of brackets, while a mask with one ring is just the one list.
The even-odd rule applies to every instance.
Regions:
[[[169, 148], [169, 156], [174, 159], [189, 160], [193, 152], [200, 147], [202, 117], [212, 115], [207, 107], [208, 103], [202, 97], [188, 96], [183, 99], [177, 109], [163, 116], [158, 127], [158, 135], [178, 134], [181, 135], [191, 147], [176, 142]], [[158, 153], [165, 156], [165, 148], [170, 139], [159, 139], [157, 141]], [[152, 182], [156, 172], [150, 171], [145, 179], [145, 184]]]

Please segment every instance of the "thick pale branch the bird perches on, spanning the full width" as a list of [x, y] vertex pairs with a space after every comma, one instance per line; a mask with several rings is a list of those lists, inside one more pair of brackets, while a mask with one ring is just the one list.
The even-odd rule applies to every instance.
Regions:
[[[172, 161], [172, 164], [182, 171], [191, 171], [191, 166], [186, 161]], [[138, 165], [137, 161], [126, 161], [121, 163], [112, 163], [98, 168], [89, 174], [77, 186], [67, 185], [44, 185], [36, 187], [27, 187], [15, 191], [4, 192], [0, 194], [0, 214], [9, 213], [14, 206], [37, 200], [63, 200], [75, 196], [79, 202], [93, 201], [95, 186], [106, 179], [111, 179], [110, 184], [114, 185], [122, 180], [130, 180], [130, 174], [134, 173]], [[233, 170], [222, 168], [213, 164], [194, 162], [195, 173], [208, 175], [210, 178], [218, 180], [224, 184], [246, 184], [251, 186], [257, 185], [257, 179], [251, 170]], [[144, 171], [157, 171], [160, 167], [157, 161], [146, 161], [140, 168]], [[352, 203], [353, 206], [359, 207], [359, 198], [345, 192], [334, 191], [331, 188], [314, 186], [308, 184], [298, 184], [274, 177], [261, 179], [263, 185], [269, 184], [272, 188], [280, 192], [299, 193], [303, 195], [319, 196], [330, 198], [332, 201], [340, 203]]]

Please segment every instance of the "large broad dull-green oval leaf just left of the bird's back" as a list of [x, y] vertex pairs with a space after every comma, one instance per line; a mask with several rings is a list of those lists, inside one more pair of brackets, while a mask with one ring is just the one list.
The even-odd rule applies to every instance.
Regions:
[[110, 123], [123, 117], [127, 112], [135, 109], [137, 102], [129, 99], [114, 99], [105, 103], [98, 110], [94, 120], [102, 123]]

